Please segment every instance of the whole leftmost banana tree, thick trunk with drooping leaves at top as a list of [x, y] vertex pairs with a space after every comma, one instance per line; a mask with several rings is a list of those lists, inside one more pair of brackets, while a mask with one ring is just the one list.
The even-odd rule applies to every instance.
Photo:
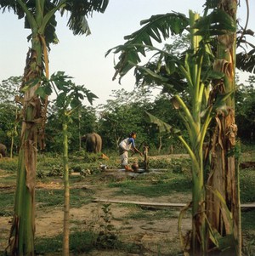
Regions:
[[25, 28], [31, 47], [26, 55], [26, 66], [20, 90], [24, 98], [17, 186], [14, 202], [14, 218], [8, 247], [12, 255], [33, 255], [35, 235], [35, 177], [37, 169], [37, 145], [44, 145], [44, 126], [47, 98], [37, 96], [42, 77], [48, 77], [48, 51], [51, 43], [57, 43], [55, 14], [67, 13], [67, 26], [75, 35], [90, 34], [88, 15], [104, 12], [108, 0], [0, 0], [0, 9], [12, 10], [25, 20]]

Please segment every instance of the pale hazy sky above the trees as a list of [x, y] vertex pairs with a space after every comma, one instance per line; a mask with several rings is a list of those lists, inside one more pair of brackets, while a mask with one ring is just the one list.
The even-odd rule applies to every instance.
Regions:
[[[202, 14], [205, 0], [110, 0], [104, 14], [94, 13], [88, 18], [91, 35], [74, 36], [66, 26], [67, 17], [58, 18], [56, 29], [59, 44], [51, 45], [49, 53], [49, 73], [65, 71], [73, 77], [73, 82], [84, 84], [99, 99], [94, 106], [105, 104], [111, 98], [112, 90], [134, 88], [133, 71], [122, 78], [112, 81], [114, 75], [114, 54], [105, 57], [110, 48], [123, 44], [124, 36], [130, 35], [141, 27], [141, 20], [154, 14], [166, 14], [172, 11], [188, 15], [189, 10]], [[255, 31], [255, 0], [249, 1], [250, 20], [248, 27]], [[246, 1], [241, 0], [237, 18], [242, 26], [246, 22]], [[0, 14], [0, 81], [8, 77], [22, 76], [26, 53], [31, 46], [26, 37], [30, 31], [24, 28], [24, 20], [18, 20], [13, 13]], [[250, 38], [249, 38], [250, 39]], [[255, 44], [254, 37], [252, 38]], [[117, 59], [116, 59], [117, 60]], [[243, 75], [244, 77], [247, 77]], [[89, 105], [88, 101], [85, 105]]]

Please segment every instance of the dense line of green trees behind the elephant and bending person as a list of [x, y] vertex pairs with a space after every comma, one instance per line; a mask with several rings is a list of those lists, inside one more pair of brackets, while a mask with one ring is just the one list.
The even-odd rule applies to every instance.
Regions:
[[[19, 88], [20, 77], [9, 77], [0, 86], [0, 142], [11, 147], [14, 139], [14, 153], [19, 150], [20, 111], [22, 98]], [[255, 136], [255, 76], [250, 76], [246, 84], [239, 84], [235, 97], [235, 121], [238, 125], [238, 137], [244, 144], [254, 143]], [[113, 90], [111, 100], [104, 105], [82, 106], [72, 117], [69, 127], [71, 138], [70, 151], [79, 151], [81, 136], [96, 132], [103, 139], [103, 151], [116, 151], [121, 139], [131, 131], [138, 133], [137, 145], [146, 144], [150, 151], [170, 153], [183, 151], [178, 140], [169, 134], [160, 134], [158, 128], [148, 120], [145, 111], [161, 118], [173, 127], [182, 128], [182, 122], [172, 107], [171, 94], [161, 92], [153, 96], [149, 88], [135, 88], [132, 92], [125, 89]], [[62, 139], [59, 109], [52, 104], [48, 107], [45, 142], [47, 152], [60, 153]], [[185, 129], [183, 129], [184, 131]]]

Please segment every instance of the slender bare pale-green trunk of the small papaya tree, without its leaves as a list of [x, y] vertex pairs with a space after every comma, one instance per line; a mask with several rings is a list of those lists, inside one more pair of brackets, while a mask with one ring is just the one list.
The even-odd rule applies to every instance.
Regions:
[[69, 188], [69, 170], [68, 170], [68, 137], [67, 137], [67, 122], [63, 122], [63, 146], [64, 146], [64, 232], [63, 232], [63, 256], [69, 255], [69, 208], [70, 208], [70, 188]]

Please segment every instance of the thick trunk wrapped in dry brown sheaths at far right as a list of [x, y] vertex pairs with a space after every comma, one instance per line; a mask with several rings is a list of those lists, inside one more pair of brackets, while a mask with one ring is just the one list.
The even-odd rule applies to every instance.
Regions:
[[[224, 0], [219, 7], [236, 20], [236, 0]], [[224, 80], [214, 85], [217, 94], [235, 90], [235, 33], [218, 36], [215, 70], [224, 72]], [[233, 94], [235, 95], [235, 94]], [[221, 236], [232, 236], [231, 255], [241, 255], [241, 216], [238, 172], [235, 172], [235, 100], [226, 100], [226, 110], [218, 111], [212, 135], [212, 162], [207, 185], [207, 216], [213, 229]], [[214, 192], [213, 192], [214, 191]], [[219, 194], [215, 194], [218, 191]], [[221, 196], [218, 196], [221, 195]], [[225, 204], [233, 219], [227, 218]], [[235, 254], [234, 254], [235, 253]]]

